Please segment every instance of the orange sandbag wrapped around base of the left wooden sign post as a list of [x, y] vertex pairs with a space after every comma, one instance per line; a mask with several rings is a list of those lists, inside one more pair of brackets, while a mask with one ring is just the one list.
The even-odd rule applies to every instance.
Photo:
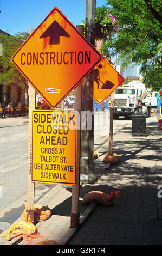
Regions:
[[[25, 204], [27, 208], [27, 204]], [[47, 206], [34, 205], [34, 216], [36, 221], [46, 221], [51, 216], [51, 210]], [[22, 221], [31, 221], [30, 215], [26, 212], [26, 209], [21, 214]]]

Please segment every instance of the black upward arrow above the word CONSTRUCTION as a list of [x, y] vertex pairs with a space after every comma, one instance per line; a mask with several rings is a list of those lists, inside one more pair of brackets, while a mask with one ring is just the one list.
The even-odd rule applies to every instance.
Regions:
[[70, 35], [62, 28], [57, 21], [51, 23], [51, 25], [44, 31], [44, 33], [40, 36], [40, 38], [50, 37], [49, 44], [50, 45], [59, 45], [60, 44], [60, 36], [65, 36], [67, 38]]

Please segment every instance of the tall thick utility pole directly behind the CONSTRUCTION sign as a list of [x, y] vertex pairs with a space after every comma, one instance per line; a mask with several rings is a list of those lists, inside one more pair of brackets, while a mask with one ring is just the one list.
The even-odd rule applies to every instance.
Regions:
[[[86, 0], [86, 23], [85, 37], [94, 46], [95, 43], [95, 0]], [[93, 115], [93, 78], [94, 70], [92, 70], [83, 80], [82, 88], [82, 113], [89, 112], [92, 117], [92, 127], [88, 130], [86, 118], [86, 130], [81, 130], [81, 175], [80, 181], [86, 183], [94, 183], [96, 177], [94, 175], [94, 115]], [[89, 121], [89, 120], [88, 120]]]

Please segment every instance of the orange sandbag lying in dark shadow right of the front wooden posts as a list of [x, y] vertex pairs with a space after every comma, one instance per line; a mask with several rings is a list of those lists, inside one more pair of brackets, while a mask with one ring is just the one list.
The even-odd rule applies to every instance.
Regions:
[[90, 191], [88, 192], [82, 201], [82, 204], [98, 203], [104, 206], [109, 206], [113, 204], [113, 200], [120, 196], [120, 191], [116, 190], [111, 192], [110, 195], [102, 191]]

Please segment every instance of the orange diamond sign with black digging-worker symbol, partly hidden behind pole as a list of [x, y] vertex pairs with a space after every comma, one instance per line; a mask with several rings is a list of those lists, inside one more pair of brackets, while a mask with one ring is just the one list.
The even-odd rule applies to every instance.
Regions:
[[102, 59], [94, 69], [94, 99], [101, 104], [124, 82], [124, 78], [106, 59]]

